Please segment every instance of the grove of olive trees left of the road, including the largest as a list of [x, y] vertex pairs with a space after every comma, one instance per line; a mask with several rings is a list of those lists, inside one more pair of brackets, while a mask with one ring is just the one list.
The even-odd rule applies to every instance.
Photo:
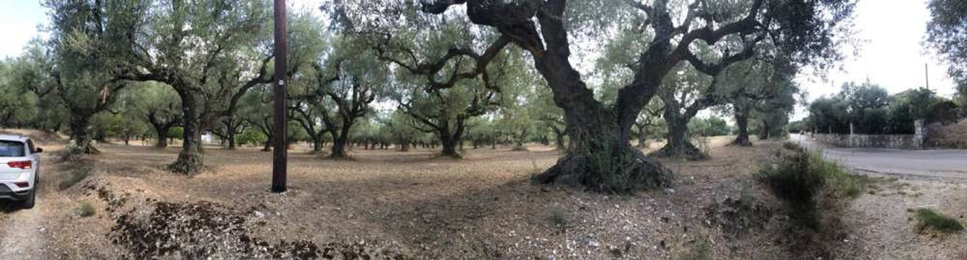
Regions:
[[[662, 135], [653, 156], [705, 158], [689, 135], [727, 131], [696, 119], [713, 109], [733, 114], [735, 143], [750, 145], [752, 129], [784, 130], [799, 67], [838, 59], [832, 35], [852, 3], [787, 2], [336, 1], [322, 17], [296, 12], [288, 141], [307, 140], [314, 153], [332, 142], [335, 159], [354, 142], [439, 145], [459, 157], [464, 140], [517, 150], [538, 141], [565, 151], [541, 182], [666, 186], [673, 174], [632, 139]], [[44, 5], [49, 39], [0, 67], [10, 94], [0, 105], [16, 106], [3, 110], [4, 126], [66, 130], [87, 153], [104, 136], [152, 132], [163, 147], [180, 131], [169, 169], [185, 174], [203, 164], [203, 132], [227, 149], [273, 139], [267, 1]], [[593, 50], [571, 41], [604, 43], [593, 72], [575, 69], [571, 52]]]

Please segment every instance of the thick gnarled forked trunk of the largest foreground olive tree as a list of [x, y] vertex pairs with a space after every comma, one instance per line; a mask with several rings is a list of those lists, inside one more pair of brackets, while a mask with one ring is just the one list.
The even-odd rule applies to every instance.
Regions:
[[[542, 58], [536, 57], [535, 61], [538, 71], [554, 89], [554, 102], [564, 109], [571, 136], [567, 154], [537, 176], [536, 181], [618, 193], [670, 186], [674, 174], [630, 144], [631, 125], [647, 99], [624, 99], [606, 107], [594, 99], [580, 74], [568, 63], [567, 53], [567, 49], [548, 46]], [[660, 77], [636, 82], [657, 87], [659, 80]], [[654, 89], [652, 93], [623, 90], [621, 94], [651, 98]]]

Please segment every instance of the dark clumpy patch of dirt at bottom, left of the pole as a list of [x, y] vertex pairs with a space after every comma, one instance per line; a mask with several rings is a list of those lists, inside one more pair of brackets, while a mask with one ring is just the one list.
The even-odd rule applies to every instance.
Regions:
[[117, 218], [108, 235], [126, 258], [148, 259], [407, 259], [365, 242], [317, 246], [308, 240], [269, 243], [249, 237], [247, 217], [211, 202], [156, 202], [150, 212]]

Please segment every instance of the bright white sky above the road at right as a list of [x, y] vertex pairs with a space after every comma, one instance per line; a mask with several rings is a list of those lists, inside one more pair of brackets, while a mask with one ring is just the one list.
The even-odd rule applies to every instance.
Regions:
[[[826, 81], [815, 76], [800, 76], [797, 81], [808, 92], [807, 100], [829, 96], [846, 81], [869, 81], [891, 94], [925, 85], [924, 64], [929, 72], [930, 89], [952, 97], [953, 81], [947, 65], [923, 47], [926, 22], [930, 19], [925, 0], [861, 0], [854, 27], [859, 51], [842, 63], [842, 71], [827, 72]], [[801, 108], [795, 119], [806, 117]]]

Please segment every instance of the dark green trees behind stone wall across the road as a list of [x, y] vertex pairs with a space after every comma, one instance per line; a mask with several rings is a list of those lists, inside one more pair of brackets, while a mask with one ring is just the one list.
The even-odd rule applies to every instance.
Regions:
[[798, 128], [824, 133], [912, 134], [916, 120], [949, 124], [960, 117], [955, 101], [928, 89], [891, 96], [869, 82], [844, 83], [839, 93], [812, 101], [808, 109], [809, 116]]

